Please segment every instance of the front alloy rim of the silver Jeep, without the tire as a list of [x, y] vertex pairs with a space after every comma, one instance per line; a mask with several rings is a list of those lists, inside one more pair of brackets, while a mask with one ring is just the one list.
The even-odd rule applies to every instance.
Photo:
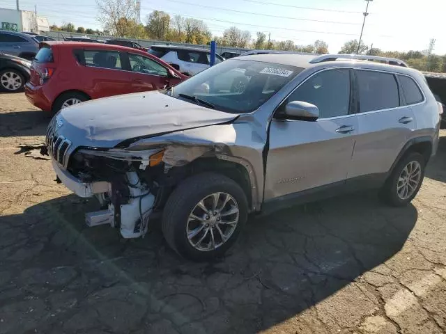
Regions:
[[215, 250], [231, 238], [240, 211], [229, 193], [212, 193], [200, 200], [187, 219], [186, 234], [197, 250]]

